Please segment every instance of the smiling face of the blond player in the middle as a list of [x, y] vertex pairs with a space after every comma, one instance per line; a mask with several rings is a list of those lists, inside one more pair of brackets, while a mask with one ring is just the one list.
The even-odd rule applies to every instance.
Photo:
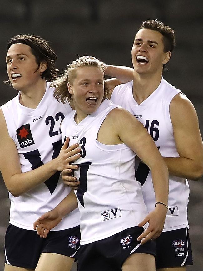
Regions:
[[95, 66], [77, 68], [68, 91], [72, 95], [77, 116], [81, 121], [101, 105], [104, 97], [104, 73]]

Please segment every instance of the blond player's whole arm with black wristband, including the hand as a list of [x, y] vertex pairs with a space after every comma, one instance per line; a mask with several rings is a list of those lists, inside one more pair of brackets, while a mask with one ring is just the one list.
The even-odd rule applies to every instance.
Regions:
[[[129, 146], [149, 166], [156, 202], [162, 202], [167, 205], [169, 189], [168, 169], [153, 139], [144, 126], [128, 111], [116, 108], [109, 115], [111, 115], [110, 127], [117, 133], [121, 142]], [[108, 134], [106, 137], [108, 137]], [[145, 238], [141, 243], [145, 243], [152, 238], [155, 239], [161, 234], [166, 212], [167, 208], [164, 205], [157, 204], [154, 211], [150, 212], [138, 224], [138, 226], [144, 226], [146, 222], [149, 222], [149, 227], [138, 238], [138, 240]]]

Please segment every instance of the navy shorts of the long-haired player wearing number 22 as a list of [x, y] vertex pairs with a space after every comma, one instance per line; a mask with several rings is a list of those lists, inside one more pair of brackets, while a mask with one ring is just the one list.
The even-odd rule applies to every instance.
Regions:
[[50, 231], [40, 238], [36, 231], [9, 225], [5, 236], [5, 263], [35, 269], [42, 253], [56, 253], [77, 259], [80, 244], [79, 226]]

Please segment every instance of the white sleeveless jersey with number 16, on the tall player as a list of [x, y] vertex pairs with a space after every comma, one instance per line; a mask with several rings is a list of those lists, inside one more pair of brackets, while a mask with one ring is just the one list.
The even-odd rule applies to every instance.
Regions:
[[[158, 88], [140, 105], [133, 98], [133, 81], [117, 86], [111, 100], [130, 111], [148, 130], [163, 157], [179, 157], [173, 135], [169, 105], [179, 89], [163, 78]], [[136, 159], [136, 180], [142, 185], [147, 209], [151, 212], [155, 205], [155, 194], [149, 168]], [[188, 227], [187, 204], [189, 185], [187, 179], [169, 176], [168, 212], [163, 231]]]

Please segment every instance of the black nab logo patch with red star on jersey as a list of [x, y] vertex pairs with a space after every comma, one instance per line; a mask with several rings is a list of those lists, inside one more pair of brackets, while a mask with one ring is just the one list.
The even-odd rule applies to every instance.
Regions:
[[32, 144], [35, 144], [32, 133], [30, 130], [30, 124], [24, 124], [20, 128], [16, 130], [17, 140], [21, 146], [21, 148], [25, 148]]

